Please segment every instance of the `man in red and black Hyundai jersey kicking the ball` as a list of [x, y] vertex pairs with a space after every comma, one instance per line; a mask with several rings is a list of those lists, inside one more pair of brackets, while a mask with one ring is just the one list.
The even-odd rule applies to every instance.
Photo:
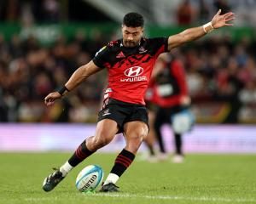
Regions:
[[170, 52], [172, 48], [203, 37], [214, 29], [232, 26], [228, 21], [234, 20], [235, 15], [232, 12], [220, 13], [221, 10], [204, 26], [190, 28], [170, 37], [156, 38], [143, 37], [144, 20], [141, 14], [125, 14], [122, 24], [123, 38], [109, 42], [88, 64], [74, 71], [60, 91], [50, 93], [44, 99], [46, 105], [52, 105], [55, 99], [60, 99], [78, 87], [90, 75], [104, 68], [108, 69], [108, 88], [98, 115], [95, 135], [85, 139], [66, 163], [44, 179], [45, 191], [53, 190], [73, 167], [109, 144], [116, 133], [123, 133], [125, 148], [116, 157], [113, 168], [100, 190], [119, 191], [116, 182], [131, 165], [143, 138], [148, 134], [148, 111], [144, 94], [155, 60], [161, 53]]

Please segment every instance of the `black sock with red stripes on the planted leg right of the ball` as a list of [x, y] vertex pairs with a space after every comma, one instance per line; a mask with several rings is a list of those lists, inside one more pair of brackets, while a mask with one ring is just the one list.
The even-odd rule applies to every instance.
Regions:
[[122, 150], [114, 161], [113, 168], [110, 173], [114, 173], [119, 177], [125, 172], [125, 170], [131, 165], [135, 155], [128, 150]]

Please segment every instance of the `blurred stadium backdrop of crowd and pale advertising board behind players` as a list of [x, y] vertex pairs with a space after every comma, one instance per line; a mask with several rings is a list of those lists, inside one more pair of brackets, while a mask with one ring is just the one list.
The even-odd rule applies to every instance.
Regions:
[[[255, 0], [0, 0], [0, 151], [74, 150], [94, 133], [106, 71], [51, 107], [43, 99], [121, 37], [126, 13], [143, 14], [147, 37], [167, 37], [218, 8], [235, 26], [180, 48], [196, 116], [184, 152], [256, 153]], [[162, 131], [172, 152], [172, 131]], [[123, 145], [119, 136], [103, 150]]]

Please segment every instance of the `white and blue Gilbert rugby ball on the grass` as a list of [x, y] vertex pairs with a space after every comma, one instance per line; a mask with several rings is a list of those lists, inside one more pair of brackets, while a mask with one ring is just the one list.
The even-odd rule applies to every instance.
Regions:
[[84, 167], [76, 179], [76, 187], [81, 192], [94, 191], [102, 183], [102, 167], [90, 165]]

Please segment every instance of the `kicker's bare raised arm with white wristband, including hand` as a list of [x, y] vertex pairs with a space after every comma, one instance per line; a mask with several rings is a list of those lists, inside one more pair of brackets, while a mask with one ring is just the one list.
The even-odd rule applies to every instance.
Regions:
[[229, 23], [230, 20], [235, 20], [235, 14], [232, 12], [226, 14], [220, 14], [221, 9], [214, 15], [212, 21], [204, 26], [189, 28], [176, 35], [168, 37], [168, 50], [177, 48], [185, 42], [196, 40], [205, 36], [207, 33], [224, 26], [233, 26]]

